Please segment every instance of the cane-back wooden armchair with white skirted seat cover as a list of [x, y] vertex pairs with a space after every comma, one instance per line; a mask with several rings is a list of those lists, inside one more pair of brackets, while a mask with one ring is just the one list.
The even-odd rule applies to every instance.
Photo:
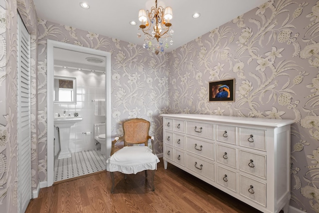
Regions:
[[[106, 165], [107, 171], [111, 173], [111, 193], [114, 192], [114, 172], [121, 172], [126, 178], [126, 174], [145, 171], [147, 178], [148, 170], [152, 170], [152, 191], [155, 191], [154, 175], [160, 160], [154, 151], [154, 137], [149, 135], [150, 126], [149, 121], [141, 118], [123, 122], [124, 135], [112, 141], [111, 156]], [[148, 147], [149, 139], [151, 139], [152, 149]], [[124, 140], [124, 147], [117, 150], [115, 144], [120, 140]], [[135, 146], [141, 144], [145, 146]]]

